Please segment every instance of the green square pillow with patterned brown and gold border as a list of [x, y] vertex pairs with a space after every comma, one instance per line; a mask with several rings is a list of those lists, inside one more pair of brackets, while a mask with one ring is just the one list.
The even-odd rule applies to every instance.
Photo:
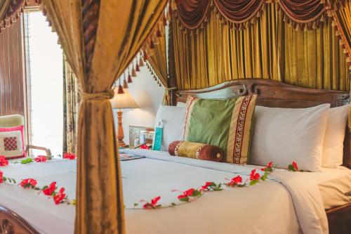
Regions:
[[251, 119], [257, 95], [210, 100], [189, 96], [185, 109], [185, 141], [217, 145], [223, 162], [245, 164], [249, 158]]

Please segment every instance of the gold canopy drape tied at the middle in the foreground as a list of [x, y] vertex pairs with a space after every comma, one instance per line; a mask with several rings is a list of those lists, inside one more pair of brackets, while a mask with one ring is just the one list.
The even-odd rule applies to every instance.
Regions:
[[[109, 98], [166, 0], [43, 0], [84, 91], [77, 141], [75, 233], [124, 233], [121, 170]], [[117, 23], [118, 22], [118, 23]]]

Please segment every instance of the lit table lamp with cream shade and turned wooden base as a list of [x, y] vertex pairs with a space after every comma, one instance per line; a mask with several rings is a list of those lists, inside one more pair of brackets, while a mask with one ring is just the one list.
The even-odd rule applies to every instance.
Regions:
[[129, 93], [128, 89], [124, 89], [124, 93], [118, 93], [118, 88], [114, 89], [114, 97], [111, 99], [111, 105], [113, 109], [119, 109], [117, 111], [117, 119], [118, 119], [118, 145], [119, 147], [126, 147], [126, 143], [124, 143], [124, 132], [122, 126], [122, 110], [127, 108], [138, 108], [138, 105], [135, 103], [134, 98]]

